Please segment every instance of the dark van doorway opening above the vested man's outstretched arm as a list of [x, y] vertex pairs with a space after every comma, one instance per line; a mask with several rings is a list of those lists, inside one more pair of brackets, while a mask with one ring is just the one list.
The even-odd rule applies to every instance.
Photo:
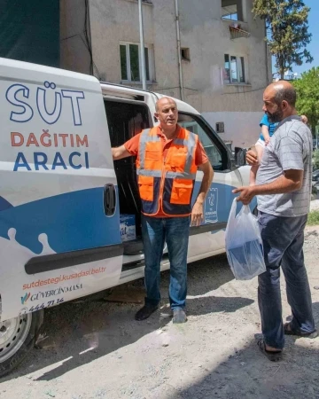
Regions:
[[113, 147], [119, 147], [151, 126], [150, 111], [143, 103], [105, 99], [105, 112]]

